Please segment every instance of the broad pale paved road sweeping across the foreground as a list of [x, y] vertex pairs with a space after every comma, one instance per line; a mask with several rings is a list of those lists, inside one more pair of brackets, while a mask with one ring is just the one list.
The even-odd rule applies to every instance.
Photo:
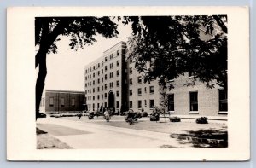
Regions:
[[48, 117], [38, 119], [37, 126], [72, 148], [191, 148], [191, 144], [180, 144], [167, 133], [97, 125], [94, 122]]

